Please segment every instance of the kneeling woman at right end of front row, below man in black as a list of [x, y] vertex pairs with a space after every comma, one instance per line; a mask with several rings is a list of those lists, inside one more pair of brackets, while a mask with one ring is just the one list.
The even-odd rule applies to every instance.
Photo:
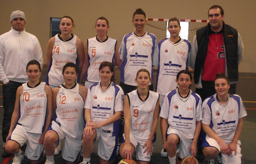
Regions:
[[206, 159], [214, 159], [219, 153], [222, 163], [241, 163], [243, 117], [247, 115], [240, 96], [228, 94], [229, 79], [224, 73], [216, 74], [216, 94], [203, 103], [202, 125], [206, 136], [202, 140]]

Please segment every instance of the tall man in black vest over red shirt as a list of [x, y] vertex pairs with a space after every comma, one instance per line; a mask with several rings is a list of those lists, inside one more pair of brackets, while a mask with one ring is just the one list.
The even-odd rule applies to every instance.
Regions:
[[223, 72], [235, 94], [238, 65], [244, 46], [236, 29], [224, 23], [224, 10], [214, 5], [208, 11], [209, 24], [196, 31], [191, 48], [190, 65], [194, 70], [195, 92], [202, 101], [215, 93], [214, 78]]

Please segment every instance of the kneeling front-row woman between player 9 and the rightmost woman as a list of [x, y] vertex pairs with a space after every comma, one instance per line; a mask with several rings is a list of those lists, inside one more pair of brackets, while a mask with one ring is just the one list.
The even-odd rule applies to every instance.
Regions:
[[160, 112], [163, 148], [167, 150], [170, 164], [176, 163], [178, 148], [177, 163], [186, 156], [196, 155], [196, 142], [202, 127], [201, 98], [189, 89], [192, 75], [181, 70], [176, 77], [179, 88], [167, 93]]

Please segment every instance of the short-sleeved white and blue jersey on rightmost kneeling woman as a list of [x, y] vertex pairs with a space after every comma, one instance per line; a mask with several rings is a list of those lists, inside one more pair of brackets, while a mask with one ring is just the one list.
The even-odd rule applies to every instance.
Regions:
[[210, 125], [212, 130], [226, 142], [234, 138], [239, 118], [247, 115], [239, 95], [230, 94], [225, 105], [219, 103], [214, 94], [205, 99], [202, 107], [202, 123]]

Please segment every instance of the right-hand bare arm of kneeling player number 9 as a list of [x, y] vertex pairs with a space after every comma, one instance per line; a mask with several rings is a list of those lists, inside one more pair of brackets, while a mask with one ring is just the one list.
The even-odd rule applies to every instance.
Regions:
[[[149, 139], [145, 142], [145, 144], [143, 145], [143, 149], [144, 147], [146, 147], [145, 152], [147, 152], [147, 155], [149, 153], [152, 152], [152, 141], [154, 139], [154, 135], [156, 133], [156, 129], [157, 129], [157, 124], [158, 124], [158, 116], [159, 116], [159, 99], [157, 100], [156, 106], [155, 106], [155, 110], [154, 110], [154, 115], [153, 115], [153, 122], [152, 122], [152, 128], [151, 128], [151, 132], [150, 132], [150, 137]], [[125, 122], [125, 121], [124, 121]]]

